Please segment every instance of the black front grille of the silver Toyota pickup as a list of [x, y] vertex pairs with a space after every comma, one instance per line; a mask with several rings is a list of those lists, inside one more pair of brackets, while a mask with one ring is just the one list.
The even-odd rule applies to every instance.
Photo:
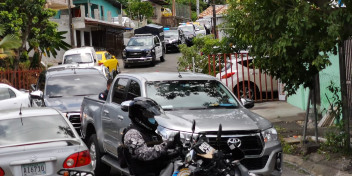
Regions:
[[[215, 149], [217, 148], [216, 135], [206, 135], [209, 139], [209, 144]], [[221, 137], [220, 148], [224, 153], [230, 153], [227, 140], [230, 138], [237, 138], [241, 141], [240, 149], [245, 153], [245, 156], [251, 158], [244, 158], [241, 161], [248, 170], [263, 169], [269, 156], [262, 156], [264, 144], [260, 133], [241, 134], [241, 135], [225, 135]]]

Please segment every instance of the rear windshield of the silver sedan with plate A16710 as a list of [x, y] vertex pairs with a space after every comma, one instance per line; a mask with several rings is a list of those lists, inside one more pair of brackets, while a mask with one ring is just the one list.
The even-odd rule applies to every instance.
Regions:
[[0, 146], [59, 138], [75, 138], [61, 115], [0, 120]]

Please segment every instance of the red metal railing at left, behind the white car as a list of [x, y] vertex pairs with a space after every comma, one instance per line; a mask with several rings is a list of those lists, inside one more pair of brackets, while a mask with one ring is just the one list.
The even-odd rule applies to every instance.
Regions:
[[17, 89], [31, 90], [31, 84], [37, 83], [42, 69], [0, 71], [0, 83], [9, 84]]

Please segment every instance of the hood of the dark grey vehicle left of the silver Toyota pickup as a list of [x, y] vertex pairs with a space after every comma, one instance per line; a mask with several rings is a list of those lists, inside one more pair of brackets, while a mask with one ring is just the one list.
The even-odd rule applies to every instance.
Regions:
[[[96, 95], [98, 97], [98, 95]], [[60, 98], [46, 98], [45, 105], [63, 113], [80, 112], [84, 96], [71, 96]]]

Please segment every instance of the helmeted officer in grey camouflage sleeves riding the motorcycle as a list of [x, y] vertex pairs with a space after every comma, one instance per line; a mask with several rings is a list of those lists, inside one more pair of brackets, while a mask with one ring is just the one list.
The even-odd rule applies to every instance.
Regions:
[[169, 161], [168, 149], [181, 145], [180, 133], [173, 141], [163, 142], [158, 135], [155, 115], [161, 115], [161, 107], [152, 99], [137, 97], [128, 107], [128, 117], [132, 123], [124, 131], [122, 142], [130, 174], [136, 176], [158, 176]]

